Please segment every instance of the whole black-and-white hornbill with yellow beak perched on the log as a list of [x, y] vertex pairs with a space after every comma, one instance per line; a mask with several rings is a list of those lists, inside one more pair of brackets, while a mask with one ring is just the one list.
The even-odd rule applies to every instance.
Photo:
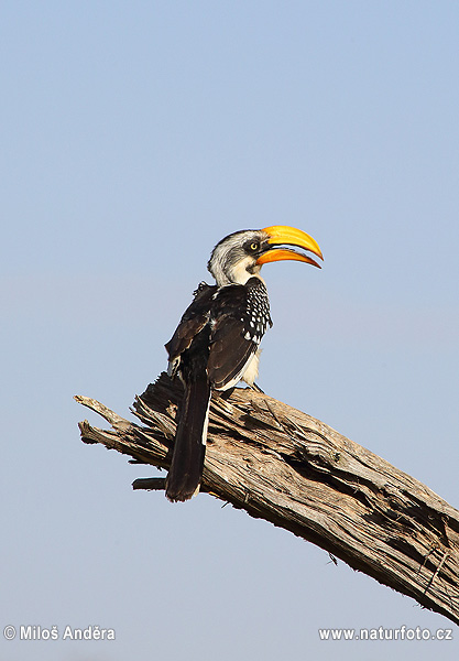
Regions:
[[261, 267], [286, 259], [319, 267], [296, 248], [323, 259], [313, 237], [284, 225], [236, 231], [222, 239], [207, 264], [216, 284], [198, 285], [165, 345], [168, 375], [178, 375], [185, 386], [166, 480], [172, 501], [188, 500], [199, 490], [211, 391], [228, 390], [240, 380], [253, 386], [258, 377], [260, 342], [273, 325]]

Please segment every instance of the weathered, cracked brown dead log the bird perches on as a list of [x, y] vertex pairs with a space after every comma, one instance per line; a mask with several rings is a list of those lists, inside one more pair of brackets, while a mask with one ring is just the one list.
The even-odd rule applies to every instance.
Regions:
[[[182, 388], [161, 375], [130, 423], [89, 398], [112, 430], [79, 423], [135, 463], [167, 468]], [[163, 489], [162, 478], [134, 488]], [[214, 394], [201, 490], [321, 546], [459, 624], [459, 511], [328, 425], [262, 392]]]

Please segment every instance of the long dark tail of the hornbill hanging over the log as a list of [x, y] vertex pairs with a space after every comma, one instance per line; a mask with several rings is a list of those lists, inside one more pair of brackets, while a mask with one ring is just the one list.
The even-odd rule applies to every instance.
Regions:
[[166, 479], [166, 497], [173, 502], [189, 500], [199, 490], [206, 454], [209, 402], [210, 384], [207, 378], [186, 386]]

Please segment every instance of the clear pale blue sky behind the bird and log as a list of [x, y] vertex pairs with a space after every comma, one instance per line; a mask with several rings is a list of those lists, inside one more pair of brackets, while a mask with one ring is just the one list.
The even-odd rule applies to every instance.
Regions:
[[[446, 618], [79, 441], [165, 368], [214, 245], [284, 224], [260, 386], [459, 505], [459, 4], [3, 0], [0, 657], [457, 659]], [[6, 625], [113, 642], [6, 641]], [[455, 642], [320, 642], [319, 627]]]

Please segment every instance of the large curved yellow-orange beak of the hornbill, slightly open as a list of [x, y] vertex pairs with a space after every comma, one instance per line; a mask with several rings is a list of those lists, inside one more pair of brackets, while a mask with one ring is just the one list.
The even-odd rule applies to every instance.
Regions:
[[292, 248], [274, 248], [274, 246], [294, 246], [314, 252], [314, 254], [317, 254], [317, 257], [323, 260], [324, 257], [317, 241], [305, 231], [296, 229], [295, 227], [288, 227], [287, 225], [273, 225], [271, 227], [265, 227], [263, 231], [270, 236], [267, 242], [273, 246], [273, 248], [269, 248], [266, 252], [259, 257], [256, 260], [258, 264], [261, 266], [273, 261], [292, 259], [313, 264], [320, 269], [320, 266], [314, 259], [302, 252], [296, 252]]

